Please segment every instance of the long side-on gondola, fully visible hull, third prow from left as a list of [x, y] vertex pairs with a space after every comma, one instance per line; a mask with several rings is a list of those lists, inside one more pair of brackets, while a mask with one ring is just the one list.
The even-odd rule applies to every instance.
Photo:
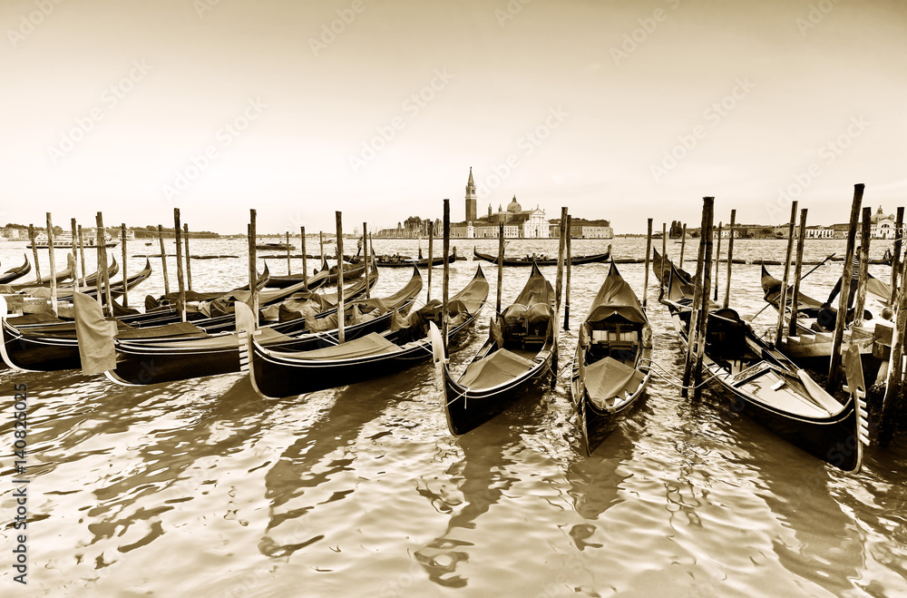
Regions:
[[[473, 324], [487, 297], [488, 281], [479, 268], [469, 284], [449, 301], [452, 338]], [[262, 396], [288, 397], [387, 376], [431, 360], [429, 330], [440, 318], [441, 302], [434, 300], [408, 319], [397, 318], [395, 326], [383, 334], [371, 333], [342, 345], [333, 338], [321, 348], [309, 350], [299, 350], [292, 344], [268, 348], [256, 330], [244, 345], [249, 377]], [[249, 314], [244, 325], [247, 332], [253, 328], [250, 323]]]

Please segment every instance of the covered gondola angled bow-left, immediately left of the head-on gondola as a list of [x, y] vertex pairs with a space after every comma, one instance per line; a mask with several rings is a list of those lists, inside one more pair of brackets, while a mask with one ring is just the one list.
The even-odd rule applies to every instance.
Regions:
[[[440, 368], [447, 427], [461, 436], [510, 407], [526, 390], [557, 373], [557, 316], [554, 290], [539, 270], [520, 296], [492, 320], [490, 338], [463, 374], [453, 379], [448, 364]], [[435, 353], [444, 355], [435, 340]]]

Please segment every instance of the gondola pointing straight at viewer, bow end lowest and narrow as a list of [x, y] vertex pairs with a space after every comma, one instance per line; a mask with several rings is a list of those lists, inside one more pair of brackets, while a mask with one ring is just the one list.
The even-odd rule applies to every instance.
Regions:
[[580, 326], [571, 397], [589, 455], [627, 417], [649, 384], [652, 329], [613, 262]]

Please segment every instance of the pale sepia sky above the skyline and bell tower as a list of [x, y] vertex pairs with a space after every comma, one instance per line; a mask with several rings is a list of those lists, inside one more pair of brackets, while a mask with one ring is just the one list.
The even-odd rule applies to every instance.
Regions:
[[810, 224], [907, 201], [900, 0], [0, 0], [0, 224]]

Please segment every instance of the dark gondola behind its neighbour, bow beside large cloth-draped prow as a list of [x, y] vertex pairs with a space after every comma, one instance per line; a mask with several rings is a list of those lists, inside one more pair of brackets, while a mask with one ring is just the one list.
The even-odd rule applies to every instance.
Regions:
[[[412, 279], [389, 297], [346, 303], [346, 338], [365, 337], [389, 328], [395, 311], [408, 311], [422, 287], [422, 275], [414, 270]], [[236, 308], [249, 309], [244, 303], [238, 303]], [[235, 328], [236, 316], [233, 318]], [[298, 318], [258, 328], [257, 340], [267, 350], [305, 351], [336, 345], [336, 307], [317, 314], [315, 319], [317, 327], [312, 319]], [[106, 376], [118, 384], [145, 385], [239, 372], [238, 338], [237, 332], [176, 340], [121, 336], [116, 339], [116, 368], [106, 372]]]

